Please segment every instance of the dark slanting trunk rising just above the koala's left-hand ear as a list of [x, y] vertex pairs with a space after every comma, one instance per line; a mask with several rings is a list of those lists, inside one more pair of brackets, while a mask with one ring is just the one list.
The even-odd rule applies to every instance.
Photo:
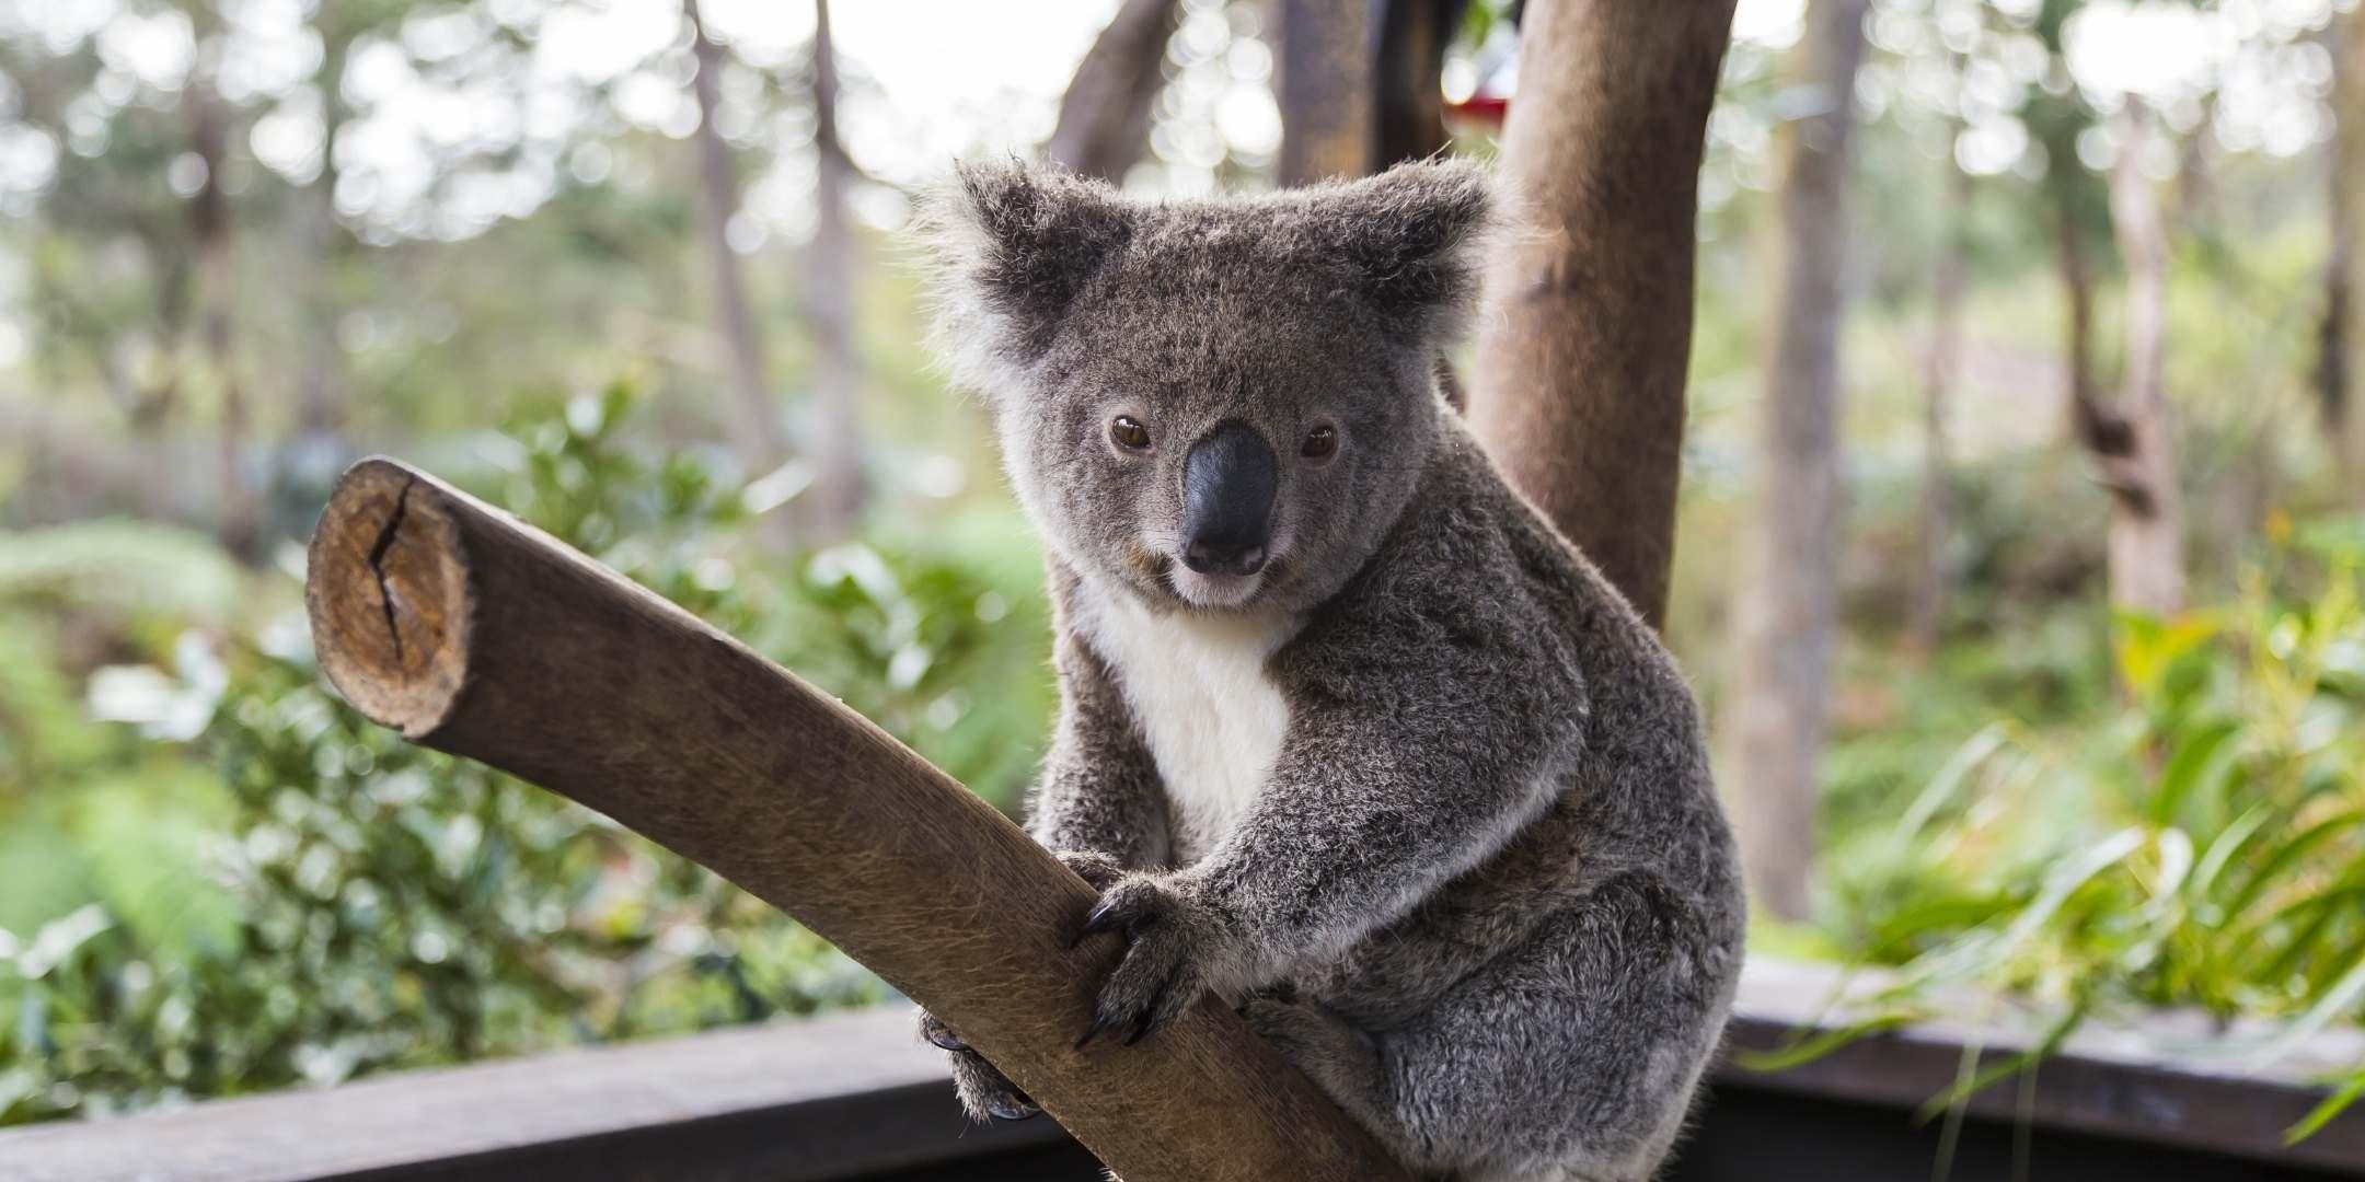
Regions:
[[1060, 123], [1043, 149], [1050, 163], [1126, 180], [1149, 139], [1149, 106], [1166, 85], [1166, 40], [1180, 12], [1175, 0], [1126, 0], [1109, 17], [1060, 97]]

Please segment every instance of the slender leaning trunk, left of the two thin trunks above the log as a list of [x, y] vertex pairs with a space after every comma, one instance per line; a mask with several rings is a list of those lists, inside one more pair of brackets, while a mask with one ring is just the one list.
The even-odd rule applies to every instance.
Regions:
[[738, 213], [738, 170], [731, 163], [731, 144], [714, 125], [721, 106], [724, 50], [707, 38], [707, 26], [698, 17], [698, 0], [681, 0], [681, 14], [691, 21], [691, 47], [698, 54], [698, 78], [691, 92], [698, 97], [698, 182], [707, 206], [705, 239], [707, 262], [714, 267], [714, 314], [721, 322], [724, 348], [731, 364], [731, 392], [738, 404], [740, 430], [733, 433], [740, 463], [750, 475], [766, 473], [788, 459], [788, 435], [773, 411], [771, 390], [764, 378], [764, 338], [757, 333], [754, 314], [747, 307], [747, 281], [740, 274], [738, 251], [731, 248], [731, 217]]

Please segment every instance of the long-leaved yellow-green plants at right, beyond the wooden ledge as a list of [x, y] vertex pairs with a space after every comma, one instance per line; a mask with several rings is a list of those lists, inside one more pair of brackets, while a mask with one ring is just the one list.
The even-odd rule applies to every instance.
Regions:
[[1897, 969], [1868, 1028], [1972, 986], [2055, 1014], [2048, 1045], [2140, 1007], [2280, 1019], [2270, 1059], [2365, 1017], [2360, 525], [2277, 522], [2230, 605], [2121, 617], [2124, 709], [1982, 728], [1833, 858], [1849, 957]]

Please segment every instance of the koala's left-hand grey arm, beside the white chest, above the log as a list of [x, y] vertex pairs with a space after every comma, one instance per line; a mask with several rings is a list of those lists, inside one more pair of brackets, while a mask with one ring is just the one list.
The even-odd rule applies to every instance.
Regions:
[[1116, 676], [1067, 631], [1055, 660], [1060, 723], [1026, 832], [1052, 853], [1107, 853], [1123, 870], [1164, 870], [1171, 858], [1166, 790]]

